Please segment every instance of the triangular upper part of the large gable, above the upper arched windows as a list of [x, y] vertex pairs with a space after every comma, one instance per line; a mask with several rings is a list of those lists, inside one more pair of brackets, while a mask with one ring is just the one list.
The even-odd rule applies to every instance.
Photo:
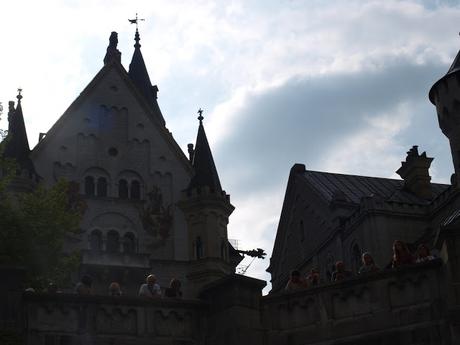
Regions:
[[174, 170], [183, 176], [185, 188], [191, 166], [151, 112], [124, 68], [113, 61], [34, 148], [37, 169], [47, 182], [60, 177], [61, 170], [66, 170], [64, 177], [78, 179], [92, 167], [118, 170], [117, 174], [126, 169], [147, 175]]

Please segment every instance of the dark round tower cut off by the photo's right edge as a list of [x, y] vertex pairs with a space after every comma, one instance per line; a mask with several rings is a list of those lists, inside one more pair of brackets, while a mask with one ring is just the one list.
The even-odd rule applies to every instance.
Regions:
[[460, 51], [446, 75], [430, 89], [429, 98], [436, 106], [439, 127], [449, 139], [455, 174], [452, 184], [460, 180]]

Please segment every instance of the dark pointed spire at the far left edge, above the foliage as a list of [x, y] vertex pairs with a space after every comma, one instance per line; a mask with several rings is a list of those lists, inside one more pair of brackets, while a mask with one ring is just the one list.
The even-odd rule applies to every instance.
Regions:
[[22, 114], [21, 93], [22, 89], [18, 89], [16, 109], [13, 101], [8, 103], [8, 135], [5, 138], [3, 157], [14, 159], [19, 166], [19, 171], [26, 170], [30, 177], [38, 178], [34, 164], [29, 158], [30, 147]]

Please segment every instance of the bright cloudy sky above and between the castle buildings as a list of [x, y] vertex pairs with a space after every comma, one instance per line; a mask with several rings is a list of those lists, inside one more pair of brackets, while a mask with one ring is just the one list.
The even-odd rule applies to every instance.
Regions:
[[[433, 181], [449, 180], [448, 142], [427, 94], [460, 48], [458, 1], [2, 2], [0, 101], [24, 89], [31, 146], [102, 67], [111, 31], [128, 67], [136, 12], [160, 107], [184, 151], [205, 109], [240, 248], [271, 253], [296, 162], [397, 177], [417, 144], [435, 157]], [[269, 280], [267, 266], [255, 261], [247, 274]]]

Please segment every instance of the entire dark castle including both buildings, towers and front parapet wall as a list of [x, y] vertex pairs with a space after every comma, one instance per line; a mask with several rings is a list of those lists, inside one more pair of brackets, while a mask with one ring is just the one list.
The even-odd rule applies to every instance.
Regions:
[[[264, 281], [235, 274], [229, 244], [233, 206], [222, 190], [203, 117], [189, 157], [165, 127], [136, 31], [126, 71], [112, 33], [104, 66], [30, 151], [21, 95], [10, 103], [5, 154], [20, 165], [24, 191], [37, 180], [78, 182], [88, 209], [68, 248], [95, 295], [23, 293], [21, 274], [2, 269], [0, 330], [25, 343], [80, 344], [457, 344], [460, 342], [460, 53], [430, 90], [451, 145], [450, 185], [431, 183], [432, 158], [412, 147], [402, 180], [291, 169]], [[363, 250], [384, 268], [391, 243], [427, 243], [439, 258], [329, 283], [343, 259], [356, 271]], [[288, 273], [321, 269], [323, 283], [294, 293]], [[133, 297], [142, 277], [171, 272], [184, 299]], [[127, 296], [106, 295], [117, 280]], [[135, 285], [130, 285], [135, 282]]]

